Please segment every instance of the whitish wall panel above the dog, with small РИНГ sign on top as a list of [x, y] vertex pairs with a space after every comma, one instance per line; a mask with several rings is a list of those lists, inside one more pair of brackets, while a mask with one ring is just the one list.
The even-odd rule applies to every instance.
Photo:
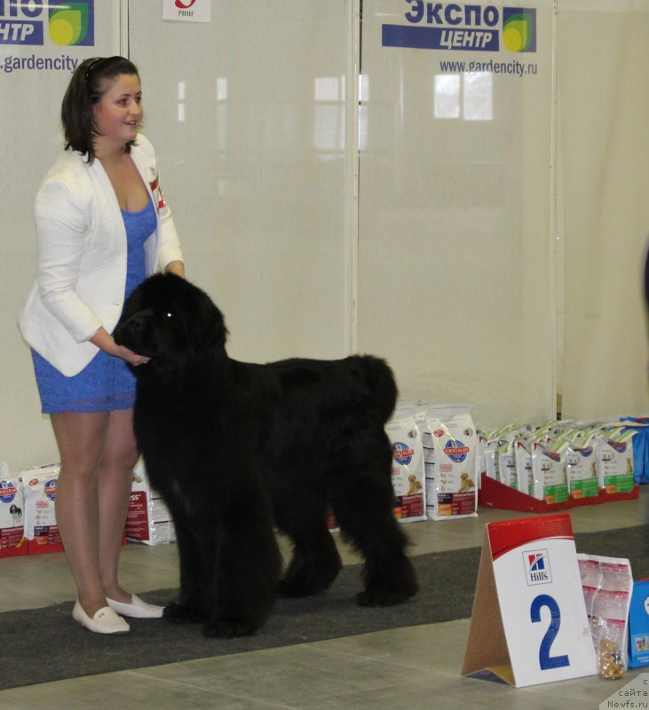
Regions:
[[234, 357], [344, 356], [348, 4], [213, 0], [210, 23], [160, 5], [130, 3], [131, 59], [188, 278], [225, 312]]

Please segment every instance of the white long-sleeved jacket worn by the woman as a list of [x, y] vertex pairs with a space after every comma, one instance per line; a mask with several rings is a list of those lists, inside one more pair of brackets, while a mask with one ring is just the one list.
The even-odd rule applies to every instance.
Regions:
[[[145, 242], [146, 275], [182, 261], [176, 226], [160, 190], [153, 146], [144, 136], [131, 156], [154, 201], [155, 232]], [[115, 191], [99, 160], [67, 150], [36, 195], [38, 266], [20, 313], [25, 340], [63, 375], [97, 354], [99, 327], [112, 333], [126, 284], [126, 229]]]

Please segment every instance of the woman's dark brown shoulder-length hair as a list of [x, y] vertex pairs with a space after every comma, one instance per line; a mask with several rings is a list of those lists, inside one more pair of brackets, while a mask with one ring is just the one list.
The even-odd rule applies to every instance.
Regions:
[[[66, 137], [66, 150], [72, 148], [88, 156], [88, 162], [95, 159], [93, 140], [97, 136], [94, 119], [94, 105], [106, 93], [109, 84], [106, 79], [118, 75], [138, 75], [138, 68], [123, 57], [94, 57], [85, 59], [75, 69], [70, 79], [66, 95], [61, 104], [61, 122]], [[131, 152], [133, 141], [126, 144], [126, 152]]]

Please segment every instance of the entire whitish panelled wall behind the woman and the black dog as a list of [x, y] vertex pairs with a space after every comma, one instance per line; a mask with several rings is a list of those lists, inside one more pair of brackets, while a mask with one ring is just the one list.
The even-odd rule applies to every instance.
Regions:
[[[432, 113], [439, 61], [460, 52], [381, 46], [403, 0], [364, 0], [360, 106], [359, 0], [213, 0], [210, 25], [162, 22], [161, 5], [96, 0], [96, 47], [0, 43], [0, 60], [114, 53], [128, 25], [189, 276], [226, 312], [233, 356], [373, 351], [404, 394], [474, 402], [484, 426], [550, 416], [557, 392], [572, 416], [649, 411], [648, 0], [523, 3], [537, 73], [494, 75], [481, 121]], [[12, 470], [56, 456], [15, 321], [68, 78], [0, 71]]]

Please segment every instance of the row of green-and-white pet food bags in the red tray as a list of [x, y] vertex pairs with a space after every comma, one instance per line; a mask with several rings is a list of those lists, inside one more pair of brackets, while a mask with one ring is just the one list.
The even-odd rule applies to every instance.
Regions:
[[479, 434], [479, 471], [540, 501], [629, 493], [633, 438], [622, 422], [510, 424]]

